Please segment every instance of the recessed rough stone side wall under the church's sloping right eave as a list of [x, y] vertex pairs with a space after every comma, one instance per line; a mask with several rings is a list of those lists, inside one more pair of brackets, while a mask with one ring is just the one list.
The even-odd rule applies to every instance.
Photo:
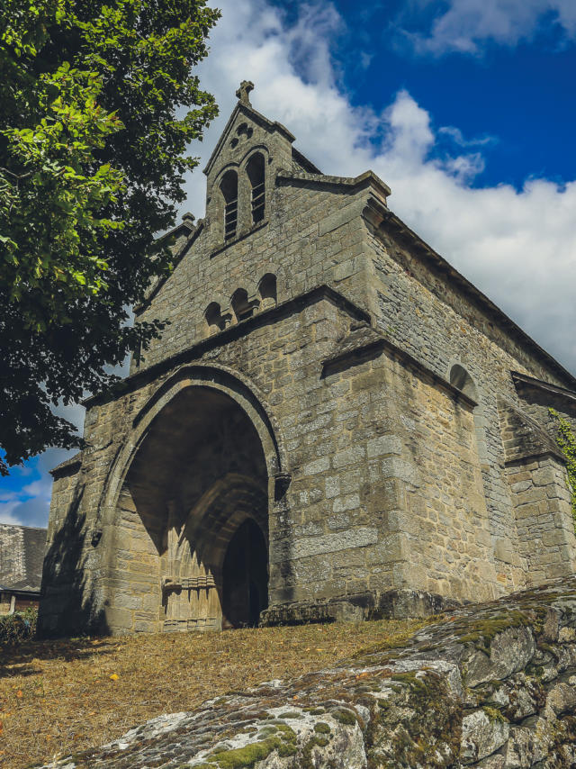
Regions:
[[[385, 213], [383, 217], [370, 240], [376, 323], [389, 339], [438, 375], [447, 378], [455, 364], [464, 366], [471, 375], [479, 404], [477, 416], [482, 421], [482, 481], [492, 547], [501, 561], [500, 574], [506, 574], [504, 582], [515, 584], [511, 572], [520, 566], [520, 548], [503, 470], [499, 399], [504, 397], [519, 409], [529, 409], [523, 397], [526, 392], [518, 393], [512, 371], [564, 386], [570, 376], [554, 362], [546, 361], [510, 321], [497, 319], [487, 300], [482, 303], [467, 290], [462, 277], [446, 263], [439, 264], [426, 244], [418, 243], [407, 228], [402, 234]], [[553, 404], [552, 398], [549, 404]], [[554, 404], [560, 405], [563, 413], [568, 408], [566, 398]], [[535, 416], [541, 424], [553, 427], [547, 406], [541, 406]], [[500, 558], [505, 553], [517, 555], [513, 565], [509, 556]]]

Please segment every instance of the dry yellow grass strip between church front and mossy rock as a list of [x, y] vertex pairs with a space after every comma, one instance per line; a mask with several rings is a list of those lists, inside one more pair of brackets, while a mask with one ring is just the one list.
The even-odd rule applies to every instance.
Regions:
[[161, 713], [408, 638], [416, 621], [30, 641], [0, 647], [0, 765], [22, 769]]

